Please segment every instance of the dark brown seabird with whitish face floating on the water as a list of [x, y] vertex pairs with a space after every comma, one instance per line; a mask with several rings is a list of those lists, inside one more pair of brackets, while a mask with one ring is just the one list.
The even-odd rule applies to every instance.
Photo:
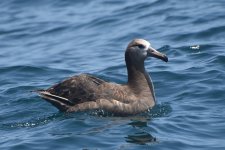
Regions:
[[126, 84], [81, 74], [37, 93], [63, 112], [102, 109], [121, 116], [145, 112], [155, 105], [153, 84], [144, 67], [147, 57], [168, 61], [167, 56], [153, 49], [148, 41], [134, 39], [125, 52]]

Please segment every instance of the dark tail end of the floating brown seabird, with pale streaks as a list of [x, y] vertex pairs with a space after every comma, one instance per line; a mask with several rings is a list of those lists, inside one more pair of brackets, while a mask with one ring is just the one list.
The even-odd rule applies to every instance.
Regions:
[[67, 111], [70, 106], [73, 106], [74, 104], [69, 101], [69, 99], [51, 94], [50, 92], [46, 90], [36, 90], [32, 91], [38, 93], [40, 97], [42, 97], [47, 102], [51, 103], [53, 106], [58, 108], [60, 111]]

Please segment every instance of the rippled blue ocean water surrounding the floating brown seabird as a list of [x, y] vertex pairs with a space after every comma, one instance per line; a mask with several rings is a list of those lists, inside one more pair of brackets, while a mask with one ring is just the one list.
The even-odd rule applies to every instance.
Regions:
[[[225, 148], [223, 0], [2, 0], [0, 149]], [[148, 115], [60, 113], [31, 90], [90, 73], [125, 83], [126, 45], [149, 40]]]

